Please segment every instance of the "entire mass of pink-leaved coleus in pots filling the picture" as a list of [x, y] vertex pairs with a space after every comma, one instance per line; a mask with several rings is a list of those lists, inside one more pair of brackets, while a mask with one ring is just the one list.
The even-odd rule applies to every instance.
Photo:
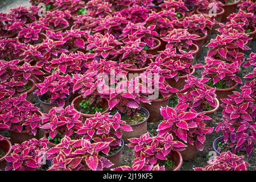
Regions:
[[[255, 2], [30, 2], [0, 13], [0, 169], [176, 171], [215, 130], [219, 156], [195, 170], [246, 170], [237, 155], [250, 158], [256, 142], [256, 56], [245, 56]], [[245, 84], [243, 67], [253, 68]], [[147, 122], [159, 121], [148, 133]], [[121, 165], [125, 144], [132, 166]]]

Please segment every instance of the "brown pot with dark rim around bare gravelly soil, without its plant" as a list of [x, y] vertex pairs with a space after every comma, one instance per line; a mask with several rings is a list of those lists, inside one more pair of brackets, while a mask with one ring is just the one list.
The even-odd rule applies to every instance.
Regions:
[[133, 131], [122, 131], [122, 138], [123, 140], [125, 140], [125, 143], [129, 143], [129, 138], [139, 138], [142, 134], [147, 133], [147, 120], [150, 117], [150, 113], [144, 107], [141, 107], [141, 110], [139, 110], [139, 112], [146, 114], [147, 118], [140, 123], [130, 125], [133, 128]]

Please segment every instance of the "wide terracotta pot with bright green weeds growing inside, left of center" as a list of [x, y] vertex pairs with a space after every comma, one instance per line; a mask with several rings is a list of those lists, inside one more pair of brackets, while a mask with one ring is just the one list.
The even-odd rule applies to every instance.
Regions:
[[[82, 96], [77, 96], [71, 102], [71, 105], [74, 105], [75, 110], [77, 110], [78, 112], [80, 112], [80, 111], [77, 108], [79, 108], [79, 104], [80, 104], [80, 102], [82, 102], [82, 100], [84, 100], [84, 98], [82, 98]], [[102, 112], [102, 114], [105, 114], [106, 112], [109, 111], [109, 104], [108, 104], [107, 99], [104, 98], [103, 102], [101, 102], [99, 105], [104, 109], [104, 112]], [[86, 118], [92, 118], [94, 116], [94, 114], [84, 114], [84, 113], [81, 113], [81, 115], [82, 115], [82, 119], [84, 121]]]

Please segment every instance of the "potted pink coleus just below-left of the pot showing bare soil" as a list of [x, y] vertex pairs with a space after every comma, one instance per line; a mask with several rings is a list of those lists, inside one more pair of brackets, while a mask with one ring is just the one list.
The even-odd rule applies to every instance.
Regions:
[[125, 146], [122, 131], [129, 132], [132, 128], [121, 120], [119, 113], [113, 116], [110, 113], [96, 113], [94, 117], [86, 119], [76, 133], [93, 142], [108, 142], [108, 147], [102, 150], [100, 155], [110, 160], [114, 164], [112, 167], [117, 167], [122, 163], [121, 152]]

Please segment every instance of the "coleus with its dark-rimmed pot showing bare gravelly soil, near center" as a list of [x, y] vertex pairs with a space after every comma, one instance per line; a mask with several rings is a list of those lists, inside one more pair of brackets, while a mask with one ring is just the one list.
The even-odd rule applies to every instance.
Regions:
[[123, 131], [123, 140], [139, 137], [147, 132], [147, 120], [150, 114], [147, 109], [140, 107], [141, 103], [150, 103], [146, 96], [150, 90], [139, 83], [139, 78], [130, 81], [117, 82], [115, 88], [110, 89], [109, 108], [118, 109], [121, 118], [133, 129], [131, 132]]

